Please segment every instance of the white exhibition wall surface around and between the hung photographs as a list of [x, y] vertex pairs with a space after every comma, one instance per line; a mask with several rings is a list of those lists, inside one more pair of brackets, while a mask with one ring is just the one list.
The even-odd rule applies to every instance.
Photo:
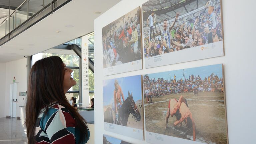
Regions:
[[[252, 120], [256, 118], [254, 94], [256, 68], [254, 42], [254, 14], [255, 1], [230, 2], [222, 0], [222, 18], [224, 30], [224, 56], [184, 62], [179, 64], [165, 65], [161, 67], [147, 68], [125, 72], [115, 75], [104, 76], [102, 60], [102, 28], [131, 10], [147, 2], [147, 0], [122, 0], [114, 7], [106, 11], [94, 21], [95, 32], [95, 143], [103, 143], [103, 134], [134, 144], [147, 144], [146, 140], [138, 140], [104, 130], [103, 111], [103, 80], [120, 77], [144, 75], [164, 71], [180, 70], [193, 67], [223, 64], [225, 81], [225, 103], [228, 127], [228, 142], [231, 144], [254, 143], [254, 129], [256, 124]], [[144, 45], [143, 45], [144, 51]], [[184, 56], [186, 57], [186, 56]], [[182, 57], [180, 57], [182, 59]], [[144, 115], [145, 117], [145, 115]], [[145, 125], [145, 124], [144, 124]], [[145, 131], [145, 126], [144, 126]], [[198, 142], [188, 141], [173, 137], [172, 142], [195, 144]]]

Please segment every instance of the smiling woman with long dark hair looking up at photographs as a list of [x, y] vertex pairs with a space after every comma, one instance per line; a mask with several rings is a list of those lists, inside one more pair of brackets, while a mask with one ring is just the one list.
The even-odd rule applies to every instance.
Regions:
[[86, 121], [65, 93], [76, 84], [72, 70], [60, 57], [38, 60], [30, 71], [26, 103], [29, 144], [84, 144], [90, 132]]

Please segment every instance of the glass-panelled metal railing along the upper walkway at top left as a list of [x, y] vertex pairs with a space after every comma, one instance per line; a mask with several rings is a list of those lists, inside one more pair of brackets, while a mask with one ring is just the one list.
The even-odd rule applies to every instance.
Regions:
[[70, 1], [72, 0], [25, 0], [15, 10], [11, 10], [9, 3], [9, 15], [0, 19], [0, 46]]

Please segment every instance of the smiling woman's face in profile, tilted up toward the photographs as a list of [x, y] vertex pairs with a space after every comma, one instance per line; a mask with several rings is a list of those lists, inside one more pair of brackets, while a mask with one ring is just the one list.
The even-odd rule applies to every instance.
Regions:
[[67, 68], [64, 64], [64, 80], [63, 80], [63, 87], [65, 90], [69, 90], [72, 86], [76, 85], [76, 81], [71, 78], [71, 73], [73, 70]]

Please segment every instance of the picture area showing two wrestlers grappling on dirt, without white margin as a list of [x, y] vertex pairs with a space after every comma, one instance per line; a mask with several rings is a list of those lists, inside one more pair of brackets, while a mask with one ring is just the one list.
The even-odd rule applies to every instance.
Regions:
[[143, 75], [147, 132], [227, 144], [222, 64]]

